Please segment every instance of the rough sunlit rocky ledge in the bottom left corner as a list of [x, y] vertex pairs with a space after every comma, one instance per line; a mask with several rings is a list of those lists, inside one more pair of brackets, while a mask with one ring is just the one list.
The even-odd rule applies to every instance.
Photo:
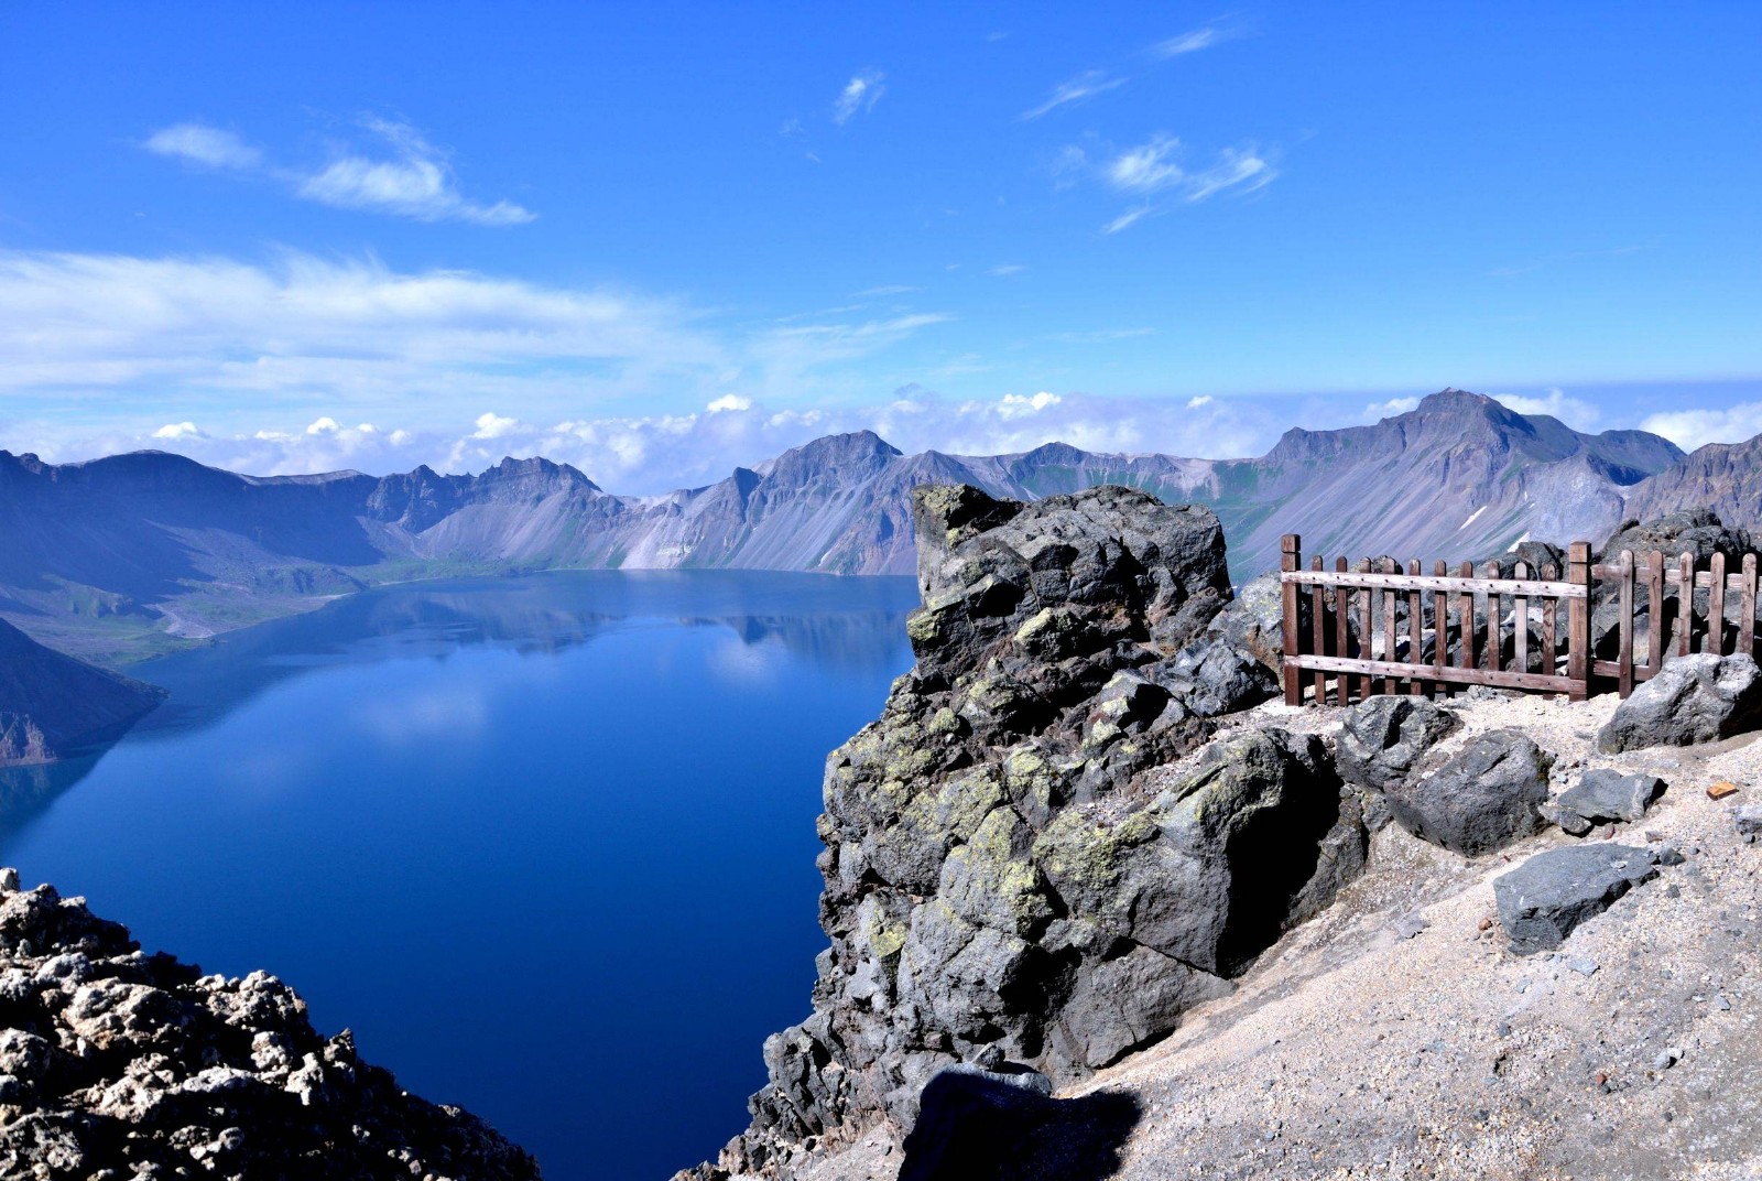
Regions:
[[0, 871], [0, 1176], [518, 1181], [534, 1160], [324, 1038], [275, 977], [204, 977]]

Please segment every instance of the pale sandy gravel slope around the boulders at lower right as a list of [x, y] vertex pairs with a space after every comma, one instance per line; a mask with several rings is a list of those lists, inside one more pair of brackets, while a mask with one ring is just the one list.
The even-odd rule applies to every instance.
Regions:
[[[1455, 705], [1468, 724], [1452, 742], [1522, 730], [1556, 756], [1556, 793], [1586, 767], [1660, 776], [1669, 791], [1644, 821], [1586, 839], [1688, 860], [1524, 959], [1505, 950], [1492, 880], [1573, 839], [1549, 828], [1468, 860], [1390, 825], [1366, 876], [1233, 996], [1064, 1093], [1136, 1098], [1114, 1176], [1762, 1177], [1762, 843], [1743, 844], [1730, 816], [1762, 800], [1758, 735], [1600, 756], [1614, 696]], [[1265, 705], [1240, 724], [1336, 719]], [[1741, 793], [1709, 800], [1718, 779]], [[877, 1128], [805, 1181], [890, 1181], [900, 1160]]]

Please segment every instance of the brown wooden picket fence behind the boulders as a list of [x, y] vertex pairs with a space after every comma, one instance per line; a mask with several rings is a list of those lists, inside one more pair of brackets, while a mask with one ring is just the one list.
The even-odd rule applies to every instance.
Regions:
[[[1697, 569], [1693, 553], [1667, 561], [1626, 550], [1593, 564], [1589, 543], [1575, 541], [1561, 576], [1552, 564], [1515, 562], [1505, 573], [1487, 562], [1477, 573], [1462, 562], [1452, 575], [1438, 562], [1425, 575], [1418, 561], [1403, 571], [1392, 559], [1348, 568], [1344, 557], [1332, 569], [1311, 557], [1304, 569], [1297, 534], [1286, 534], [1281, 550], [1290, 705], [1300, 705], [1306, 691], [1318, 705], [1344, 705], [1374, 693], [1450, 694], [1477, 684], [1565, 693], [1575, 702], [1605, 687], [1628, 696], [1672, 656], [1755, 654], [1753, 553], [1737, 573], [1727, 571], [1723, 553], [1707, 569]], [[1602, 592], [1609, 582], [1614, 590]], [[1612, 626], [1600, 635], [1593, 635], [1593, 605], [1603, 605], [1603, 615], [1614, 608]], [[1727, 619], [1734, 606], [1736, 622]], [[1598, 659], [1596, 647], [1614, 659]], [[1644, 663], [1635, 659], [1640, 647]]]

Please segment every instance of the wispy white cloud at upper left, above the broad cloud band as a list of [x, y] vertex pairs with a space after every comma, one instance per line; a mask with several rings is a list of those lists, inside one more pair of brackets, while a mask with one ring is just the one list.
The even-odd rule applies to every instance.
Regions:
[[478, 226], [520, 226], [537, 217], [511, 201], [481, 204], [467, 199], [458, 189], [448, 153], [409, 123], [365, 116], [359, 127], [372, 136], [379, 152], [340, 148], [329, 160], [310, 169], [270, 164], [259, 148], [204, 123], [166, 127], [153, 132], [143, 146], [204, 167], [270, 176], [287, 185], [296, 197], [337, 208]]

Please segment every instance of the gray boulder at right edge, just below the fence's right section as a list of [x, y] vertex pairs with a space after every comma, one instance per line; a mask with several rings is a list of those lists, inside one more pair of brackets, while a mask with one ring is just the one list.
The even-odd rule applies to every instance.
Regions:
[[1596, 733], [1605, 754], [1718, 742], [1762, 726], [1762, 672], [1751, 656], [1697, 652], [1633, 689]]

